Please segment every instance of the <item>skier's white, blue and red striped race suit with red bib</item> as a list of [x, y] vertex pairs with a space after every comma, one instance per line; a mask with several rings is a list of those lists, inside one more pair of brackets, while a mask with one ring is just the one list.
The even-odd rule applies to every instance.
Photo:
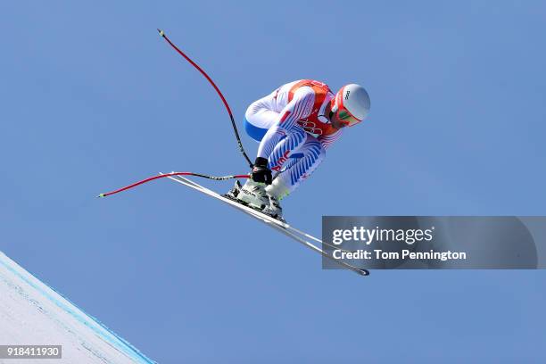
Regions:
[[278, 87], [248, 107], [244, 128], [260, 142], [257, 156], [268, 159], [274, 174], [280, 172], [269, 193], [282, 198], [294, 191], [341, 136], [325, 115], [334, 97], [326, 84], [302, 79]]

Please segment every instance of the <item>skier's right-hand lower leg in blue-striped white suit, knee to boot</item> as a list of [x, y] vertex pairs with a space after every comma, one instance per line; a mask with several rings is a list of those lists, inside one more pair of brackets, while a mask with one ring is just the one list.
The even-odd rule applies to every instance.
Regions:
[[316, 137], [309, 135], [298, 153], [302, 154], [302, 158], [291, 163], [290, 168], [281, 172], [273, 180], [273, 184], [266, 187], [267, 193], [278, 200], [292, 193], [304, 179], [309, 178], [326, 156], [324, 146], [320, 144]]

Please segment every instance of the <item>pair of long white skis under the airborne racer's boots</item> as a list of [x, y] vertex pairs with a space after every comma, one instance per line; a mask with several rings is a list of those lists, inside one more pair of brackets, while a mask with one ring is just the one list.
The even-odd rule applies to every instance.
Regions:
[[[160, 175], [164, 175], [164, 174], [160, 172]], [[211, 196], [213, 198], [216, 198], [217, 200], [219, 200], [219, 201], [221, 201], [223, 203], [227, 203], [229, 206], [234, 207], [237, 210], [242, 211], [242, 212], [246, 213], [247, 215], [251, 216], [252, 218], [261, 221], [262, 223], [266, 224], [267, 226], [276, 229], [278, 232], [284, 234], [285, 236], [293, 238], [296, 242], [307, 246], [312, 251], [318, 252], [319, 254], [321, 254], [322, 256], [326, 257], [327, 259], [329, 259], [331, 261], [335, 261], [335, 263], [339, 264], [340, 266], [342, 266], [345, 269], [352, 270], [353, 272], [359, 274], [360, 276], [368, 276], [369, 275], [369, 272], [368, 272], [367, 269], [360, 269], [360, 268], [355, 267], [352, 264], [349, 264], [349, 263], [347, 263], [345, 261], [336, 260], [333, 256], [331, 256], [330, 254], [328, 254], [327, 252], [325, 252], [324, 250], [319, 248], [316, 244], [310, 243], [310, 240], [314, 241], [314, 242], [316, 242], [318, 244], [327, 245], [328, 247], [331, 247], [333, 249], [339, 249], [338, 247], [336, 247], [334, 245], [323, 243], [322, 240], [318, 239], [317, 237], [310, 236], [310, 234], [307, 234], [307, 233], [305, 233], [305, 232], [303, 232], [303, 231], [301, 231], [301, 230], [299, 230], [299, 229], [297, 229], [295, 227], [292, 227], [292, 226], [290, 226], [288, 223], [286, 223], [284, 221], [274, 219], [274, 218], [270, 217], [269, 215], [266, 215], [266, 214], [262, 213], [261, 211], [256, 211], [256, 210], [252, 209], [251, 207], [245, 206], [245, 205], [243, 205], [241, 203], [236, 203], [235, 201], [233, 201], [233, 200], [231, 200], [231, 199], [229, 199], [229, 198], [227, 198], [227, 197], [225, 197], [225, 196], [223, 196], [221, 194], [218, 194], [218, 193], [212, 191], [211, 189], [208, 189], [208, 188], [206, 188], [204, 186], [201, 186], [201, 185], [195, 183], [191, 179], [184, 178], [182, 176], [168, 176], [168, 178], [172, 179], [175, 182], [178, 182], [181, 185], [188, 186], [190, 188], [193, 188], [196, 191], [199, 191], [199, 192], [201, 192], [203, 194], [207, 194], [207, 195], [209, 195], [209, 196]]]

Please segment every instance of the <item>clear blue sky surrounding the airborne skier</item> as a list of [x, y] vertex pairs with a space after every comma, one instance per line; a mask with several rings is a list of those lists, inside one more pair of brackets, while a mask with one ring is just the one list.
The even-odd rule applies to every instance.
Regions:
[[534, 1], [4, 2], [0, 249], [161, 363], [542, 362], [542, 271], [361, 278], [170, 181], [94, 196], [160, 170], [246, 171], [162, 28], [239, 122], [294, 79], [367, 87], [368, 121], [285, 200], [297, 227], [544, 215], [545, 16]]

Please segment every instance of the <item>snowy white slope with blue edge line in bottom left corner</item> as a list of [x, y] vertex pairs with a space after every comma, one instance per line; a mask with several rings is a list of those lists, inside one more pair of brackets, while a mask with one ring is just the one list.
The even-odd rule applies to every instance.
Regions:
[[62, 360], [0, 363], [153, 363], [96, 318], [0, 252], [0, 344], [62, 345]]

